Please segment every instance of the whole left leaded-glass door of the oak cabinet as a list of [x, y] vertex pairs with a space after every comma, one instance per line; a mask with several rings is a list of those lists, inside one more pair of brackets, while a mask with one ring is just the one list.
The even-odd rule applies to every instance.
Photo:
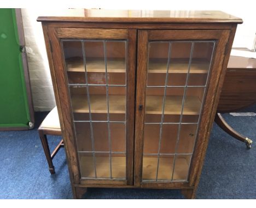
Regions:
[[74, 183], [132, 185], [136, 31], [49, 33]]

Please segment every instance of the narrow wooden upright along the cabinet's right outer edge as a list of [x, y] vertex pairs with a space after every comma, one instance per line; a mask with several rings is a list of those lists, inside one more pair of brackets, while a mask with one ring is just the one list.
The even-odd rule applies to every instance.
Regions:
[[[210, 77], [210, 84], [207, 99], [203, 109], [203, 117], [200, 125], [199, 139], [196, 143], [195, 155], [191, 166], [190, 185], [194, 185], [194, 193], [199, 183], [203, 161], [206, 154], [208, 140], [210, 137], [213, 120], [216, 114], [220, 91], [222, 89], [226, 66], [228, 65], [232, 41], [234, 40], [236, 26], [232, 30], [223, 30], [219, 39], [216, 55], [214, 58], [213, 72]], [[214, 90], [215, 89], [215, 90]], [[205, 125], [208, 124], [208, 125]]]

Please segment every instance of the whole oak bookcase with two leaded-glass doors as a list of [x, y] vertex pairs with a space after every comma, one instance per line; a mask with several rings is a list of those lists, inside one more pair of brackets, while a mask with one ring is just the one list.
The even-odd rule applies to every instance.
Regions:
[[74, 198], [86, 187], [176, 188], [195, 198], [242, 20], [220, 11], [72, 14], [38, 21]]

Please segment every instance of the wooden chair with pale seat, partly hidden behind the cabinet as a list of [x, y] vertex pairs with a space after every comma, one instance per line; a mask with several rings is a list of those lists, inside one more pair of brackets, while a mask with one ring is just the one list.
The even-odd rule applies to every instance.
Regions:
[[64, 147], [64, 143], [63, 139], [61, 139], [60, 143], [56, 146], [54, 151], [50, 153], [48, 139], [46, 135], [61, 136], [61, 127], [57, 107], [53, 108], [51, 112], [45, 117], [42, 124], [38, 128], [38, 133], [43, 145], [44, 154], [49, 165], [50, 173], [54, 174], [55, 169], [53, 166], [53, 158], [60, 150], [60, 148]]

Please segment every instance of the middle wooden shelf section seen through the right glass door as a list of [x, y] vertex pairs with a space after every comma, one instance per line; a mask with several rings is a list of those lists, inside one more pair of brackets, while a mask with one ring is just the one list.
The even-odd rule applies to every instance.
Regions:
[[[181, 114], [183, 96], [166, 96], [164, 114]], [[162, 114], [162, 96], [146, 97], [146, 113]], [[197, 96], [186, 96], [183, 114], [198, 115], [200, 113], [201, 101]]]

